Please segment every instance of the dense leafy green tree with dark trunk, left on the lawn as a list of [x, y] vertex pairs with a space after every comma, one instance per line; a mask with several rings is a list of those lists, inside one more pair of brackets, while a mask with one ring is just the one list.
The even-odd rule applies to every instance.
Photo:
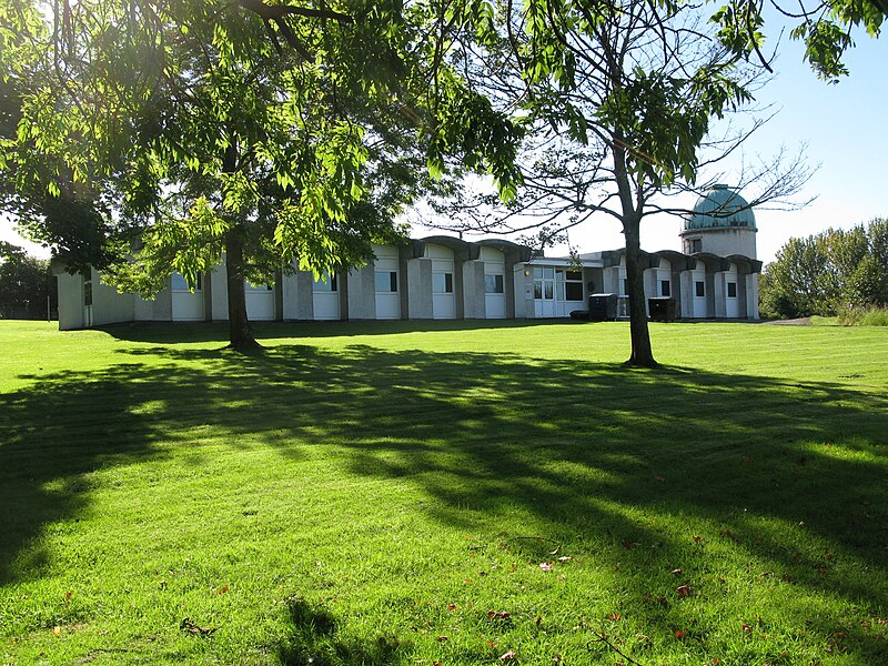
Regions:
[[443, 11], [80, 0], [44, 14], [4, 0], [0, 74], [18, 101], [4, 208], [58, 244], [53, 202], [82, 205], [117, 244], [93, 263], [143, 293], [225, 253], [232, 343], [249, 345], [243, 280], [367, 260], [431, 186], [426, 165], [455, 155], [514, 193], [519, 130], [448, 63]]

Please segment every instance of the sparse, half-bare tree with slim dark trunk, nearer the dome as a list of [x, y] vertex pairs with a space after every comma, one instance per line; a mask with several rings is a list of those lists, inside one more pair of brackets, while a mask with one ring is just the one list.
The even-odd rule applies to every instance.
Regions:
[[[624, 0], [507, 3], [490, 22], [485, 52], [466, 67], [528, 131], [523, 186], [506, 205], [494, 196], [442, 202], [452, 225], [536, 232], [545, 243], [591, 219], [614, 219], [626, 243], [633, 365], [655, 365], [647, 331], [640, 223], [686, 210], [664, 196], [700, 191], [698, 173], [746, 134], [713, 137], [715, 121], [753, 101], [760, 68], [722, 43], [704, 9], [688, 2]], [[806, 180], [797, 161], [757, 173], [756, 205], [791, 195]]]

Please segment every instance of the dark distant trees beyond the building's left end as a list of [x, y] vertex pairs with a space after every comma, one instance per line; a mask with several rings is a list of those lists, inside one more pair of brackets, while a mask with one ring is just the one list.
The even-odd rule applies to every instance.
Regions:
[[36, 259], [0, 241], [0, 319], [58, 316], [58, 294], [49, 260]]

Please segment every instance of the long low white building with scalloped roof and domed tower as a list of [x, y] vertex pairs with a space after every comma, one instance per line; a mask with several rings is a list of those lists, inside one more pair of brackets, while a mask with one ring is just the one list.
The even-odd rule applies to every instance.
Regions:
[[[683, 251], [643, 252], [645, 304], [665, 321], [757, 320], [756, 219], [727, 185], [714, 185], [682, 223]], [[374, 245], [374, 260], [324, 275], [281, 271], [273, 284], [246, 284], [253, 321], [484, 320], [568, 317], [607, 296], [607, 319], [628, 316], [625, 250], [545, 256], [502, 239], [406, 239]], [[153, 300], [118, 293], [95, 269], [57, 264], [59, 327], [118, 322], [228, 320], [223, 263], [194, 284], [173, 274]], [[668, 305], [663, 310], [664, 305]]]

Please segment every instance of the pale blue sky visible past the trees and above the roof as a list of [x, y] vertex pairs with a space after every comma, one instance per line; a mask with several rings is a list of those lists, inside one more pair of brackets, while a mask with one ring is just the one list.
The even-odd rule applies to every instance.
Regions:
[[[778, 32], [776, 24], [770, 24]], [[775, 79], [758, 94], [777, 115], [745, 145], [746, 159], [766, 159], [783, 144], [790, 152], [807, 144], [807, 161], [818, 171], [799, 199], [817, 199], [799, 211], [757, 210], [758, 259], [768, 262], [791, 236], [805, 236], [829, 226], [849, 228], [877, 216], [888, 216], [888, 37], [857, 37], [857, 48], [847, 58], [851, 73], [828, 85], [803, 62], [803, 47], [784, 38], [776, 61]], [[730, 178], [725, 179], [730, 184]], [[652, 218], [642, 228], [646, 250], [679, 250], [680, 223], [674, 218]], [[416, 235], [424, 235], [416, 230]], [[0, 220], [0, 240], [22, 242], [12, 222]], [[623, 245], [616, 222], [603, 216], [571, 232], [571, 243], [581, 251]], [[39, 246], [27, 245], [46, 256]], [[565, 248], [547, 251], [551, 255]]]

